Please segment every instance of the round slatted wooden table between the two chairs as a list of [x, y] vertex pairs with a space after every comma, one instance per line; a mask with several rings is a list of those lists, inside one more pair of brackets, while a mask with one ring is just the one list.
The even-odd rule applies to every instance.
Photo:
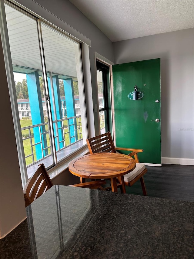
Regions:
[[135, 169], [135, 160], [118, 153], [95, 153], [84, 155], [69, 163], [69, 171], [81, 178], [111, 179], [112, 192], [117, 192], [116, 177], [126, 193], [124, 175]]

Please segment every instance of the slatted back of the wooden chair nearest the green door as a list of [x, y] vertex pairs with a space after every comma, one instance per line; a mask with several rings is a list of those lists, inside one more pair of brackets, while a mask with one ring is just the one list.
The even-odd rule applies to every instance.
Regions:
[[86, 139], [90, 154], [99, 152], [114, 152], [115, 145], [113, 143], [110, 132], [95, 136], [93, 138]]

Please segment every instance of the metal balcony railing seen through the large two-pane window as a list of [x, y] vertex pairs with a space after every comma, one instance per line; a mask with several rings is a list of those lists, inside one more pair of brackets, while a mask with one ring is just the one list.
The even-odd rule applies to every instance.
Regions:
[[[74, 116], [70, 118], [62, 118], [60, 120], [53, 121], [53, 127], [56, 127], [55, 135], [55, 146], [56, 152], [59, 152], [63, 148], [72, 145], [73, 143], [82, 140], [82, 122], [81, 115]], [[39, 141], [35, 143], [34, 139], [34, 129], [38, 128], [39, 131]], [[44, 130], [43, 130], [44, 128]], [[73, 134], [72, 134], [73, 128]], [[27, 167], [34, 164], [35, 162], [42, 160], [43, 158], [51, 155], [51, 137], [49, 131], [49, 123], [40, 123], [36, 125], [31, 125], [28, 127], [21, 128], [22, 130], [22, 139], [25, 152], [25, 160]], [[59, 134], [62, 133], [62, 138], [59, 139]], [[44, 138], [43, 138], [44, 137]], [[46, 143], [45, 145], [45, 138]], [[41, 146], [41, 159], [37, 159], [36, 146]], [[40, 157], [40, 154], [39, 154]]]

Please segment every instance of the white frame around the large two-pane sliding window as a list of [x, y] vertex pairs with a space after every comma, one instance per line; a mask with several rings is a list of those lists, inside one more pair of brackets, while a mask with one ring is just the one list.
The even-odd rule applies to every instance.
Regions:
[[[22, 178], [22, 186], [24, 187], [26, 182], [28, 181], [28, 174], [27, 174], [27, 167], [25, 163], [25, 154], [24, 154], [24, 147], [23, 147], [23, 140], [22, 140], [22, 132], [21, 132], [21, 127], [20, 127], [20, 118], [19, 118], [19, 111], [18, 111], [18, 103], [17, 103], [17, 97], [16, 97], [16, 90], [15, 87], [15, 80], [14, 80], [14, 74], [13, 74], [13, 67], [12, 67], [12, 58], [11, 58], [11, 50], [9, 46], [9, 38], [8, 38], [8, 29], [7, 29], [7, 22], [6, 22], [6, 15], [5, 15], [5, 6], [4, 2], [13, 8], [19, 10], [20, 12], [23, 12], [25, 15], [28, 15], [32, 19], [36, 20], [38, 23], [38, 36], [39, 36], [39, 43], [40, 43], [40, 54], [42, 58], [42, 72], [43, 72], [43, 80], [44, 80], [44, 86], [45, 87], [45, 93], [48, 94], [48, 83], [47, 83], [47, 76], [46, 76], [46, 69], [45, 69], [45, 60], [44, 60], [44, 55], [43, 55], [43, 41], [42, 41], [42, 33], [40, 29], [40, 22], [38, 15], [36, 17], [32, 16], [25, 10], [18, 8], [17, 6], [7, 2], [7, 1], [0, 1], [0, 14], [1, 14], [1, 22], [0, 22], [0, 31], [1, 31], [1, 38], [2, 38], [2, 46], [3, 46], [3, 52], [4, 52], [4, 59], [5, 59], [5, 68], [6, 68], [6, 74], [7, 74], [7, 80], [8, 80], [8, 88], [9, 88], [9, 94], [10, 94], [10, 100], [11, 100], [11, 107], [12, 107], [12, 114], [13, 114], [13, 121], [14, 121], [14, 128], [15, 128], [15, 136], [16, 136], [16, 143], [17, 143], [17, 149], [18, 149], [18, 158], [19, 158], [19, 165], [21, 169], [21, 178]], [[15, 1], [12, 1], [15, 2]], [[29, 11], [29, 10], [28, 10]], [[57, 30], [58, 32], [62, 33], [65, 37], [68, 37], [70, 40], [80, 43], [77, 40], [70, 38], [67, 33], [65, 33], [63, 30], [59, 29], [58, 27], [54, 26], [48, 21], [45, 21], [45, 19], [42, 19], [42, 22], [47, 23], [50, 27], [53, 29]], [[54, 141], [54, 131], [53, 129], [50, 129], [50, 134], [52, 138], [52, 145], [53, 148], [52, 150], [55, 151], [54, 155], [54, 163], [55, 165], [59, 166], [60, 164], [67, 162], [72, 156], [75, 155], [75, 153], [82, 151], [86, 147], [86, 141], [84, 143], [84, 139], [88, 137], [88, 128], [87, 128], [87, 118], [86, 118], [86, 107], [85, 107], [85, 92], [84, 92], [84, 84], [83, 84], [83, 71], [82, 71], [82, 59], [81, 59], [81, 49], [80, 49], [80, 44], [79, 44], [79, 51], [75, 53], [75, 58], [76, 58], [76, 68], [77, 68], [77, 77], [79, 78], [79, 99], [82, 98], [84, 100], [81, 102], [81, 108], [82, 112], [81, 114], [81, 120], [82, 120], [82, 136], [83, 136], [83, 146], [82, 148], [79, 148], [74, 152], [74, 154], [66, 157], [65, 159], [59, 161], [58, 163], [56, 162], [56, 148], [55, 148], [55, 141]], [[46, 102], [47, 103], [47, 102]], [[48, 115], [50, 121], [52, 121], [51, 117], [51, 107], [50, 104], [48, 106]], [[52, 123], [50, 125], [53, 127]]]

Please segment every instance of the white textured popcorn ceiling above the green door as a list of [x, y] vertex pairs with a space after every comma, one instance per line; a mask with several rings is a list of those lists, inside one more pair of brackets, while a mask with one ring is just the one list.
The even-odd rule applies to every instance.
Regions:
[[194, 27], [194, 1], [72, 0], [71, 2], [112, 42]]

